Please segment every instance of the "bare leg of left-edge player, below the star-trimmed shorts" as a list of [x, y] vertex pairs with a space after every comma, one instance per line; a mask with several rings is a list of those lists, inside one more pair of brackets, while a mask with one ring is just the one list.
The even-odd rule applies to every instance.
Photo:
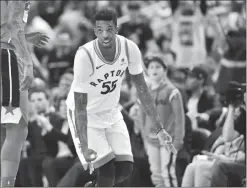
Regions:
[[27, 131], [24, 118], [19, 124], [6, 124], [6, 138], [1, 150], [1, 187], [14, 187]]

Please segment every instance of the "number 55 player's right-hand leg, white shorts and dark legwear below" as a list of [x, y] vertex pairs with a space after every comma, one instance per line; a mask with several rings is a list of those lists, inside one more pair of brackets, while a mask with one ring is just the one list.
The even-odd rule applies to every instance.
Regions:
[[115, 182], [118, 184], [129, 177], [133, 170], [133, 155], [131, 151], [128, 129], [123, 120], [106, 130], [107, 140], [115, 154]]

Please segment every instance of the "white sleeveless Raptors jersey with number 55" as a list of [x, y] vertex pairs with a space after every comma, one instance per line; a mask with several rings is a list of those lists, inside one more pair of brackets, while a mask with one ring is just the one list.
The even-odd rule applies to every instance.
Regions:
[[[87, 103], [88, 114], [100, 113], [118, 107], [122, 80], [129, 60], [127, 39], [117, 35], [116, 40], [117, 51], [112, 62], [106, 62], [103, 58], [97, 46], [97, 39], [80, 47], [88, 53], [93, 66], [93, 74], [87, 82], [87, 87], [90, 88]], [[68, 95], [67, 106], [74, 110], [74, 92], [72, 90]]]

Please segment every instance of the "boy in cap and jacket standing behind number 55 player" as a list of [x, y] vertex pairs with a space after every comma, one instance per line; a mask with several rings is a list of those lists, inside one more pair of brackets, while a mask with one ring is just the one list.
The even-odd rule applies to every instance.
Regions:
[[[167, 77], [167, 65], [161, 58], [151, 57], [147, 59], [147, 72], [149, 88], [154, 98], [157, 112], [162, 124], [174, 140], [177, 150], [183, 147], [185, 133], [184, 108], [182, 97], [177, 88]], [[144, 114], [144, 113], [143, 113]], [[153, 130], [153, 123], [148, 116], [143, 117], [144, 142], [152, 172], [152, 182], [156, 187], [178, 186], [176, 178], [176, 158], [167, 149], [160, 145]], [[168, 172], [167, 172], [168, 170]]]

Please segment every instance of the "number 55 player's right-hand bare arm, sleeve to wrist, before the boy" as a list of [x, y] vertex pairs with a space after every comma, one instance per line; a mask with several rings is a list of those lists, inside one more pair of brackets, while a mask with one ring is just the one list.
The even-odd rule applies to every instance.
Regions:
[[155, 108], [154, 100], [147, 87], [143, 73], [131, 75], [131, 80], [133, 81], [136, 87], [138, 97], [140, 99], [141, 105], [143, 106], [143, 110], [145, 111], [145, 113], [152, 118], [154, 124], [158, 123], [160, 124], [160, 126], [162, 126], [160, 123], [160, 118]]

